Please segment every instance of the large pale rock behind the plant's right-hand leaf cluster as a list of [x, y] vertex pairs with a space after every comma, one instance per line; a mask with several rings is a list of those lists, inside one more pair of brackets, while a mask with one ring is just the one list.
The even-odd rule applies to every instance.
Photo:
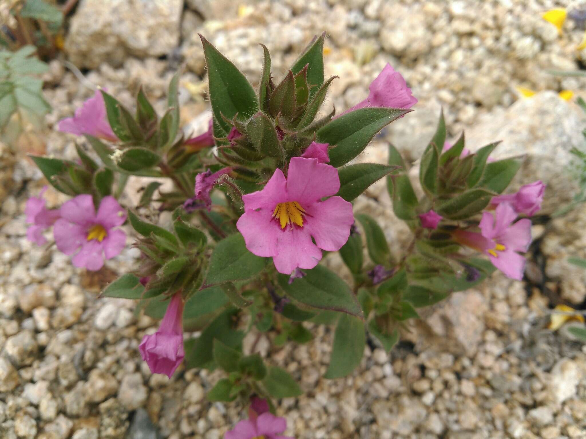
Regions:
[[524, 155], [523, 166], [509, 191], [522, 184], [542, 180], [547, 184], [543, 211], [550, 213], [567, 204], [577, 190], [570, 174], [575, 156], [572, 148], [584, 148], [581, 115], [551, 91], [522, 99], [506, 111], [483, 115], [478, 125], [466, 131], [466, 147], [475, 152], [496, 140], [493, 159]]

